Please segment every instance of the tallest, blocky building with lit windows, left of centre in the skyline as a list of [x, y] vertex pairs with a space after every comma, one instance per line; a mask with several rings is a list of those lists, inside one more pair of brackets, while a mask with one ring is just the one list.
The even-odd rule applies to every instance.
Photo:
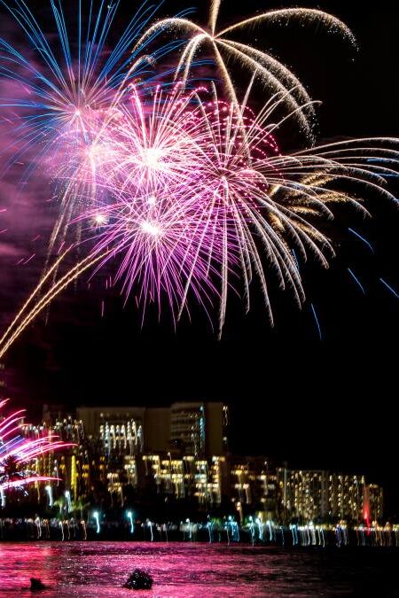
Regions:
[[[220, 463], [228, 423], [223, 403], [78, 408], [76, 414], [87, 442], [97, 442], [101, 453], [97, 474], [85, 464], [85, 476], [91, 480], [86, 493], [97, 478], [112, 501], [122, 504], [124, 486], [145, 490], [151, 480], [157, 494], [176, 500], [192, 498], [204, 506], [222, 501]], [[209, 455], [212, 449], [216, 456]]]

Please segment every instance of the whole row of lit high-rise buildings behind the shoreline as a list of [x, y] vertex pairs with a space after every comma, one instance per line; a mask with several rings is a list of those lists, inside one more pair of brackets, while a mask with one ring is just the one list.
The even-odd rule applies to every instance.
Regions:
[[47, 407], [46, 414], [42, 425], [25, 424], [24, 434], [46, 432], [75, 446], [37, 458], [34, 468], [61, 478], [54, 498], [67, 491], [74, 504], [188, 501], [190, 509], [222, 508], [241, 522], [255, 515], [285, 524], [369, 523], [383, 515], [382, 489], [364, 476], [276, 469], [265, 457], [228, 454], [223, 403], [79, 408], [77, 418]]

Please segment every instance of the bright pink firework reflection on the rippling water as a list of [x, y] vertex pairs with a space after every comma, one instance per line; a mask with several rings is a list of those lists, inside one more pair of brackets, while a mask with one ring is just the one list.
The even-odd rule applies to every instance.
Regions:
[[264, 552], [180, 543], [0, 544], [0, 594], [30, 595], [30, 578], [37, 577], [48, 586], [41, 596], [131, 596], [121, 586], [138, 567], [154, 579], [153, 590], [140, 595], [262, 596], [264, 574], [273, 570]]

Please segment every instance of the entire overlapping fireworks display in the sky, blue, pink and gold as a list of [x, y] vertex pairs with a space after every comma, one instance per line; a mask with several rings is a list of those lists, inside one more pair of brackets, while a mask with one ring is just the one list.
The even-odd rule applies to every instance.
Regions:
[[[323, 23], [353, 42], [348, 27], [324, 12], [270, 11], [218, 31], [220, 0], [211, 3], [207, 28], [185, 13], [152, 25], [155, 9], [144, 4], [108, 50], [119, 2], [99, 2], [98, 12], [90, 4], [85, 33], [79, 2], [75, 44], [66, 35], [61, 4], [51, 3], [61, 64], [27, 4], [2, 4], [38, 54], [27, 60], [0, 39], [0, 76], [12, 81], [11, 91], [4, 83], [8, 96], [1, 104], [4, 110], [12, 106], [12, 124], [18, 123], [12, 144], [18, 149], [9, 152], [5, 168], [35, 150], [27, 171], [49, 167], [60, 200], [51, 247], [66, 238], [67, 229], [76, 229], [74, 238], [86, 254], [59, 275], [69, 248], [46, 270], [0, 339], [0, 357], [59, 292], [90, 268], [112, 269], [112, 283], [121, 283], [126, 299], [136, 299], [143, 317], [149, 304], [159, 314], [167, 307], [173, 322], [184, 312], [190, 315], [192, 304], [200, 304], [211, 322], [217, 312], [219, 335], [229, 293], [236, 292], [248, 310], [258, 283], [272, 323], [270, 279], [289, 288], [301, 306], [301, 261], [313, 256], [328, 267], [334, 244], [325, 221], [332, 219], [334, 204], [348, 203], [368, 214], [359, 190], [393, 198], [386, 178], [397, 171], [397, 140], [358, 139], [283, 151], [278, 144], [283, 123], [310, 131], [309, 96], [286, 66], [230, 38], [249, 26], [300, 19]], [[179, 42], [148, 52], [162, 32], [176, 28], [192, 37], [170, 69], [172, 83], [154, 68]], [[213, 51], [215, 81], [196, 87], [189, 76], [203, 46]], [[242, 101], [225, 58], [237, 58], [253, 75]], [[270, 99], [254, 113], [251, 94], [259, 77]], [[18, 101], [10, 99], [15, 86], [26, 94]]]

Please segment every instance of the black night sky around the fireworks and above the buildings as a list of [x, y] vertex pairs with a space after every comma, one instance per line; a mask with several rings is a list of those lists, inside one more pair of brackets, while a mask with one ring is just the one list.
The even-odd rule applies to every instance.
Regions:
[[[123, 4], [123, 3], [122, 3]], [[202, 0], [200, 8], [206, 6]], [[167, 2], [166, 12], [183, 3]], [[280, 5], [293, 5], [281, 3]], [[315, 27], [265, 31], [260, 47], [273, 50], [320, 99], [318, 134], [399, 136], [397, 40], [394, 3], [307, 2], [344, 20], [356, 35], [354, 50], [337, 35]], [[230, 23], [262, 7], [257, 0], [225, 0], [221, 20]], [[264, 3], [269, 9], [270, 2]], [[6, 192], [4, 186], [3, 194]], [[34, 206], [34, 208], [32, 207]], [[303, 272], [309, 302], [301, 312], [289, 293], [272, 291], [276, 326], [270, 330], [261, 301], [244, 315], [232, 299], [222, 340], [194, 309], [192, 323], [173, 330], [149, 315], [143, 329], [135, 307], [106, 295], [100, 317], [98, 291], [84, 281], [57, 299], [45, 324], [38, 319], [8, 354], [9, 390], [35, 415], [44, 401], [76, 404], [165, 404], [171, 400], [226, 400], [231, 405], [231, 446], [241, 453], [286, 459], [294, 467], [366, 472], [387, 486], [388, 509], [399, 513], [397, 481], [398, 301], [379, 278], [398, 288], [397, 210], [371, 198], [373, 219], [339, 214], [338, 257], [328, 271]], [[37, 209], [36, 209], [37, 208]], [[2, 235], [3, 320], [32, 288], [43, 262], [51, 221], [37, 198], [24, 198], [17, 227]], [[39, 215], [38, 215], [39, 214]], [[12, 220], [10, 210], [4, 216]], [[53, 214], [52, 214], [53, 215]], [[46, 220], [47, 219], [47, 220]], [[366, 237], [374, 252], [348, 233]], [[42, 233], [41, 240], [34, 242]], [[344, 234], [345, 233], [345, 234]], [[34, 266], [15, 259], [37, 252]], [[42, 258], [40, 258], [42, 255]], [[32, 264], [32, 262], [30, 262]], [[351, 268], [366, 289], [350, 278]], [[311, 312], [317, 310], [322, 340]]]

